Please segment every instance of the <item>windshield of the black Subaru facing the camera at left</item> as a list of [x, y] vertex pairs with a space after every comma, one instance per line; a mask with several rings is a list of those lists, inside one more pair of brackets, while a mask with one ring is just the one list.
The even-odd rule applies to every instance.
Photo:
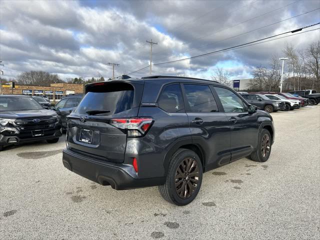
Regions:
[[0, 111], [40, 110], [43, 107], [32, 97], [0, 96]]

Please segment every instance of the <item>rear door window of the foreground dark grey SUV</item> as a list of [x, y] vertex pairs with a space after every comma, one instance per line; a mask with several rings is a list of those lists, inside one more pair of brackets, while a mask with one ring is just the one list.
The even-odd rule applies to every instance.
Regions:
[[208, 85], [183, 84], [186, 101], [191, 112], [219, 111]]

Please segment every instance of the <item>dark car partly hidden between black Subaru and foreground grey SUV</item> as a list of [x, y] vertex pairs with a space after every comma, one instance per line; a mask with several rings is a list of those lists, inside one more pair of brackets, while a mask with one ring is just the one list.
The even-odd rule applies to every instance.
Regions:
[[82, 94], [70, 94], [62, 98], [55, 106], [52, 108], [60, 115], [61, 124], [63, 128], [66, 128], [66, 116], [70, 114], [72, 110], [79, 104], [81, 101]]

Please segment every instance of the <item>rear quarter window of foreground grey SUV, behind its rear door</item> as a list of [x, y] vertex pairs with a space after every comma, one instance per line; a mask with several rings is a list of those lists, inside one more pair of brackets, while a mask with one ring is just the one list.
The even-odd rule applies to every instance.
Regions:
[[167, 112], [184, 110], [180, 84], [165, 86], [159, 96], [158, 105]]

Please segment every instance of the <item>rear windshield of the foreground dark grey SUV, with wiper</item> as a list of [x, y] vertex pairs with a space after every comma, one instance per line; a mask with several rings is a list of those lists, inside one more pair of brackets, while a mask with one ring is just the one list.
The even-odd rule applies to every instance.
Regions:
[[134, 89], [128, 83], [108, 83], [90, 87], [75, 109], [78, 114], [112, 115], [129, 110], [133, 104]]

